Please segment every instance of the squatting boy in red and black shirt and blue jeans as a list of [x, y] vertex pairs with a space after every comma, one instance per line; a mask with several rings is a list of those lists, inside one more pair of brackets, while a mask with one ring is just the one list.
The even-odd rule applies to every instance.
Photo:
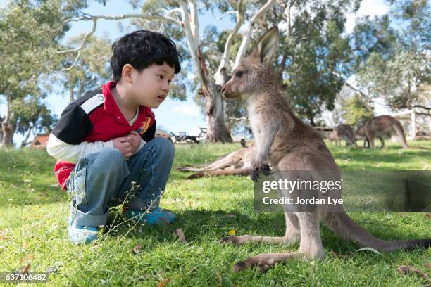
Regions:
[[132, 181], [140, 187], [124, 209], [127, 218], [153, 225], [176, 217], [158, 207], [174, 148], [154, 139], [151, 108], [168, 96], [180, 56], [170, 39], [144, 30], [118, 39], [112, 49], [113, 81], [70, 103], [49, 136], [48, 153], [58, 158], [56, 177], [72, 195], [73, 243], [97, 238], [109, 206], [125, 200]]

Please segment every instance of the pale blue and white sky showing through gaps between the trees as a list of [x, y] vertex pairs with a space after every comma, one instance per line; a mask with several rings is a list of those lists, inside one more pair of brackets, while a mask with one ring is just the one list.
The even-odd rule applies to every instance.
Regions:
[[[6, 3], [7, 1], [0, 0], [0, 8], [4, 7]], [[134, 11], [132, 6], [123, 0], [107, 1], [106, 6], [95, 2], [90, 2], [90, 4], [89, 8], [83, 12], [91, 15], [122, 15], [138, 12]], [[388, 10], [389, 8], [383, 0], [363, 0], [361, 8], [356, 14], [347, 15], [346, 32], [353, 30], [354, 21], [357, 17], [363, 15], [383, 15]], [[235, 23], [230, 22], [229, 17], [225, 17], [222, 20], [218, 20], [218, 18], [220, 18], [220, 13], [213, 15], [211, 12], [208, 12], [204, 15], [199, 15], [199, 32], [201, 33], [210, 24], [215, 25], [219, 31], [232, 29], [235, 26]], [[115, 39], [124, 34], [119, 31], [118, 22], [115, 20], [99, 20], [95, 34], [99, 36], [108, 35], [112, 41], [115, 41]], [[124, 27], [127, 27], [129, 23], [128, 20], [122, 20], [121, 22]], [[77, 34], [89, 32], [91, 27], [92, 23], [90, 21], [73, 23], [71, 29], [65, 35], [63, 42], [67, 42], [70, 37], [75, 37]], [[125, 33], [127, 32], [129, 31]], [[56, 90], [61, 90], [61, 87], [57, 87]], [[54, 92], [49, 94], [46, 102], [48, 103], [47, 106], [59, 117], [68, 104], [68, 94], [67, 92], [63, 94]], [[377, 105], [376, 108], [377, 114], [387, 113], [387, 110], [382, 105]], [[4, 115], [5, 110], [5, 105], [0, 103], [0, 115]], [[163, 127], [163, 129], [167, 129], [175, 134], [178, 132], [187, 132], [190, 135], [196, 135], [196, 133], [199, 133], [198, 127], [206, 127], [205, 117], [201, 114], [201, 110], [196, 103], [192, 101], [192, 95], [188, 95], [187, 101], [175, 101], [167, 98], [159, 108], [154, 110], [154, 113], [158, 127]], [[20, 144], [22, 139], [23, 136], [15, 134], [13, 140], [16, 144]]]

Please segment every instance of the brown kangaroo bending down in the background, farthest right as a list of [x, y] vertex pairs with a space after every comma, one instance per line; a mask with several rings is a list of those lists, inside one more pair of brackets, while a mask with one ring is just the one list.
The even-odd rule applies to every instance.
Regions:
[[406, 134], [404, 134], [401, 122], [390, 115], [379, 115], [378, 117], [373, 117], [371, 120], [366, 122], [364, 130], [372, 149], [375, 148], [374, 139], [376, 137], [380, 139], [380, 142], [382, 143], [380, 148], [384, 148], [385, 141], [383, 139], [390, 138], [394, 133], [396, 133], [398, 141], [403, 148], [410, 148], [406, 142]]

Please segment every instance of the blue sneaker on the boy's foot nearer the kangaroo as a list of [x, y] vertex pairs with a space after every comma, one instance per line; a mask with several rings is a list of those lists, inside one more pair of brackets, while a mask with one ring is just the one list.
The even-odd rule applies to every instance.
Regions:
[[157, 208], [152, 212], [144, 212], [142, 210], [130, 208], [125, 210], [124, 215], [127, 217], [127, 219], [132, 219], [135, 222], [147, 225], [162, 225], [166, 222], [172, 223], [175, 218], [177, 218], [175, 213], [171, 212], [170, 210], [163, 210], [161, 208]]

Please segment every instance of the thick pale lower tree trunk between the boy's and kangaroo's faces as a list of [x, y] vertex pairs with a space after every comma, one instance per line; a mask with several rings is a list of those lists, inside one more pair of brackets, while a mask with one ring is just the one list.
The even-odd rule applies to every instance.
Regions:
[[232, 142], [230, 132], [227, 130], [225, 123], [225, 109], [223, 106], [223, 98], [221, 96], [220, 87], [218, 88], [211, 77], [208, 75], [206, 63], [201, 54], [201, 49], [198, 48], [199, 72], [203, 83], [201, 83], [201, 91], [204, 94], [205, 114], [206, 114], [206, 141], [221, 141]]

